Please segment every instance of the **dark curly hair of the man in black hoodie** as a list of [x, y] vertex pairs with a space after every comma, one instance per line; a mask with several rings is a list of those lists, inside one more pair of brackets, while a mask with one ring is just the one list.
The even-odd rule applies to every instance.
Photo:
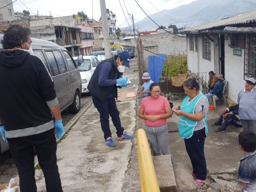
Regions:
[[31, 31], [29, 28], [23, 28], [20, 25], [12, 25], [8, 28], [1, 43], [4, 49], [13, 49], [14, 47], [20, 47], [22, 42], [28, 42], [28, 38]]

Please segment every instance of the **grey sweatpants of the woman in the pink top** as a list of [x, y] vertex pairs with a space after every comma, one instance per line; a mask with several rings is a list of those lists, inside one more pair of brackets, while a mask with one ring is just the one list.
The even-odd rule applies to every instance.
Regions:
[[167, 124], [160, 127], [148, 127], [145, 125], [145, 131], [154, 156], [170, 154]]

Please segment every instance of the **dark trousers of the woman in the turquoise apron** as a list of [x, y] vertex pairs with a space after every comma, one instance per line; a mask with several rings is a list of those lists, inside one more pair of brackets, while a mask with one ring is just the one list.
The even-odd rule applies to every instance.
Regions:
[[194, 131], [193, 136], [185, 139], [185, 146], [193, 166], [196, 179], [205, 180], [207, 175], [206, 161], [204, 156], [205, 128]]

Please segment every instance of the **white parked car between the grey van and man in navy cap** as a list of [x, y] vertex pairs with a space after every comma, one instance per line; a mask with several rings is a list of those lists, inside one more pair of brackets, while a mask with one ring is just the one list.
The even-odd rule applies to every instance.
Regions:
[[78, 57], [73, 57], [73, 59], [79, 64], [78, 68], [82, 79], [82, 93], [89, 93], [87, 86], [95, 68], [99, 64], [99, 60], [96, 56], [83, 56], [83, 63], [79, 63]]

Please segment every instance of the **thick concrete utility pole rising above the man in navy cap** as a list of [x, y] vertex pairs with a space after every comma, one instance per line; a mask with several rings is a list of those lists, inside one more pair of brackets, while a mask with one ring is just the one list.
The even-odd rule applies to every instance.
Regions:
[[102, 21], [102, 29], [103, 29], [103, 36], [104, 36], [104, 39], [103, 39], [104, 51], [105, 51], [106, 58], [111, 58], [110, 45], [109, 45], [109, 27], [108, 27], [105, 0], [100, 0], [100, 11], [101, 11], [101, 21]]

